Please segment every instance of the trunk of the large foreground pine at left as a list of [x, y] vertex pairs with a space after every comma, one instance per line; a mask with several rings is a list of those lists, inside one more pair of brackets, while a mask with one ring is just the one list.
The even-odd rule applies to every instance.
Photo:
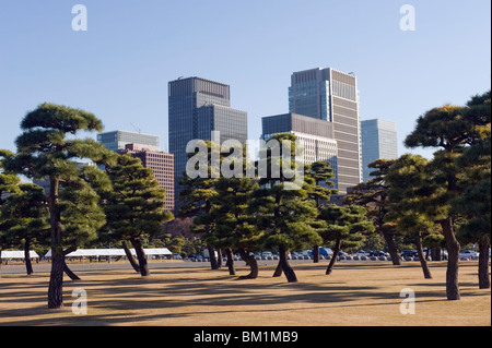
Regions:
[[61, 217], [58, 208], [58, 179], [49, 180], [49, 218], [51, 242], [51, 273], [48, 286], [48, 308], [59, 309], [63, 307], [63, 264], [65, 254], [61, 240]]

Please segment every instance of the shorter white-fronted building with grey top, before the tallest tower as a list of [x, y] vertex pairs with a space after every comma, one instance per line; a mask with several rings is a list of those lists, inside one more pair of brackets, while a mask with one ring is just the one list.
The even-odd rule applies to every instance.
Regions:
[[328, 161], [336, 176], [335, 188], [338, 189], [337, 141], [327, 136], [333, 131], [332, 123], [303, 115], [284, 113], [261, 118], [261, 139], [265, 141], [268, 141], [273, 134], [294, 134], [301, 143], [304, 164]]

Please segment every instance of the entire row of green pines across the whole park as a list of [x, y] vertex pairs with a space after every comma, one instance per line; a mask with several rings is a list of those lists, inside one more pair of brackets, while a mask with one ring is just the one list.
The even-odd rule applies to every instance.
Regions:
[[[79, 139], [82, 131], [102, 130], [102, 122], [83, 110], [43, 104], [25, 116], [21, 128], [17, 152], [0, 152], [0, 197], [11, 193], [0, 200], [0, 244], [5, 249], [22, 241], [27, 252], [32, 243], [49, 243], [48, 307], [63, 303], [63, 273], [77, 278], [65, 256], [96, 240], [121, 243], [134, 269], [149, 275], [142, 240], [160, 233], [173, 218], [164, 211], [165, 192], [152, 170], [139, 159]], [[395, 236], [402, 233], [413, 238], [420, 253], [422, 240], [427, 245], [445, 244], [449, 300], [459, 299], [460, 241], [478, 243], [480, 287], [490, 287], [490, 92], [464, 107], [444, 106], [420, 117], [406, 145], [441, 148], [434, 158], [407, 154], [396, 160], [376, 160], [371, 165], [373, 179], [355, 187], [340, 206], [330, 204], [336, 190], [333, 170], [326, 161], [305, 166], [302, 187], [290, 190], [294, 179], [284, 168], [296, 167], [295, 136], [274, 139], [291, 141], [291, 147], [282, 147], [278, 156], [269, 147], [260, 154], [268, 168], [282, 168], [276, 176], [271, 171], [261, 178], [216, 176], [212, 153], [218, 145], [208, 142], [208, 175], [181, 182], [180, 217], [194, 218], [192, 229], [207, 244], [212, 268], [219, 267], [214, 249], [220, 249], [227, 255], [230, 273], [235, 274], [232, 255], [238, 252], [250, 267], [243, 278], [255, 278], [258, 265], [251, 252], [271, 250], [280, 255], [273, 276], [283, 273], [288, 281], [297, 281], [289, 251], [314, 248], [318, 262], [319, 245], [329, 244], [336, 253], [358, 249], [375, 232], [384, 237], [397, 264]], [[236, 166], [237, 160], [227, 161], [232, 153], [221, 154], [220, 160]], [[247, 158], [244, 153], [239, 157]], [[74, 159], [98, 166], [77, 165]], [[241, 168], [247, 168], [245, 163]], [[49, 178], [48, 197], [36, 185], [20, 184], [19, 175]], [[425, 257], [420, 260], [425, 277], [431, 277]], [[335, 262], [336, 257], [327, 274]]]

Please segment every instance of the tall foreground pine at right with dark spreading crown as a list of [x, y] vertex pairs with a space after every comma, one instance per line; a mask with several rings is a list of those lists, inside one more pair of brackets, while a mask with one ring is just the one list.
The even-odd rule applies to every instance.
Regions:
[[[464, 168], [456, 166], [456, 159], [467, 145], [471, 145], [490, 134], [490, 92], [472, 98], [467, 106], [446, 105], [434, 108], [419, 117], [417, 127], [407, 136], [408, 147], [436, 147], [433, 160], [429, 164], [434, 180], [427, 185], [427, 196], [431, 211], [441, 208], [441, 224], [448, 251], [446, 272], [446, 297], [448, 300], [459, 300], [458, 285], [459, 250], [456, 238], [456, 216], [449, 211], [450, 202], [462, 192], [461, 179]], [[482, 103], [483, 101], [483, 103]], [[476, 105], [477, 104], [477, 105]], [[432, 192], [431, 192], [432, 191]]]

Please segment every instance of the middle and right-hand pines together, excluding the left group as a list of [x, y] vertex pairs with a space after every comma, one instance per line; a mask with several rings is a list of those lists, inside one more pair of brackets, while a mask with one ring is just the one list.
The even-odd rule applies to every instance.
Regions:
[[[276, 135], [291, 140], [292, 134]], [[207, 241], [212, 268], [218, 267], [213, 247], [226, 251], [234, 274], [232, 250], [237, 250], [257, 276], [258, 267], [249, 252], [276, 250], [280, 254], [274, 276], [282, 272], [296, 281], [289, 265], [289, 250], [329, 243], [335, 253], [356, 249], [373, 231], [384, 237], [395, 265], [399, 265], [396, 236], [413, 240], [425, 278], [431, 271], [422, 245], [448, 252], [446, 293], [460, 298], [458, 267], [460, 242], [477, 243], [480, 251], [479, 286], [490, 288], [490, 92], [471, 98], [466, 106], [434, 108], [418, 119], [407, 136], [407, 147], [435, 147], [434, 158], [406, 154], [395, 160], [376, 160], [373, 179], [345, 196], [343, 206], [329, 204], [332, 170], [328, 163], [306, 166], [301, 190], [285, 190], [290, 180], [280, 175], [257, 179], [185, 179], [181, 199], [188, 204], [181, 216], [196, 216], [195, 230]], [[212, 152], [214, 144], [208, 143]], [[270, 161], [282, 161], [269, 148]], [[291, 156], [294, 155], [291, 149]], [[223, 154], [229, 156], [230, 153]], [[190, 155], [191, 157], [192, 155]], [[211, 160], [211, 156], [209, 156]], [[292, 164], [291, 167], [294, 167]], [[246, 166], [243, 166], [246, 167]], [[282, 166], [280, 166], [282, 167]], [[283, 168], [283, 167], [282, 167]], [[435, 255], [438, 260], [440, 253]], [[318, 255], [315, 254], [315, 262]], [[330, 274], [336, 257], [328, 266]]]

